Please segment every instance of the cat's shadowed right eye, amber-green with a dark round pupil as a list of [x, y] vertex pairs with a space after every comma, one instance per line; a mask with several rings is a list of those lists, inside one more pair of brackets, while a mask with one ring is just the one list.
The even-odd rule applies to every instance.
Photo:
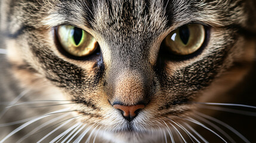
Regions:
[[169, 33], [164, 45], [175, 55], [189, 55], [201, 48], [204, 41], [205, 28], [202, 24], [186, 24]]

